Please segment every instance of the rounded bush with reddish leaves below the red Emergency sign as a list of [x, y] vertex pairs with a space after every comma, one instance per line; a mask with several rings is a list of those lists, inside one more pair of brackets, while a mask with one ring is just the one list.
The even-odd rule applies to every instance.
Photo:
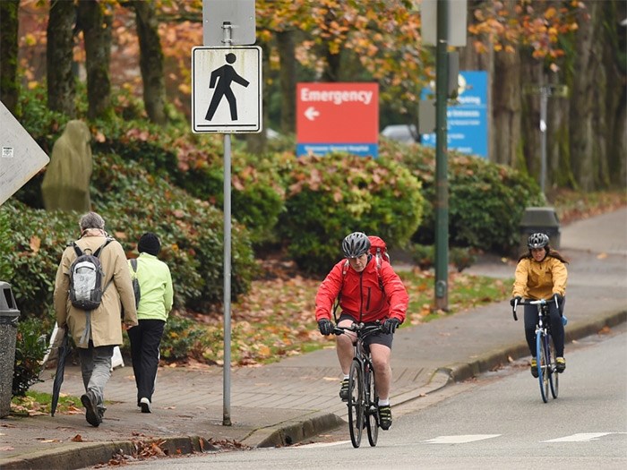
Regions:
[[406, 243], [420, 223], [420, 184], [390, 159], [344, 154], [299, 158], [289, 179], [278, 230], [291, 257], [306, 271], [328, 271], [350, 232], [379, 235], [393, 247]]

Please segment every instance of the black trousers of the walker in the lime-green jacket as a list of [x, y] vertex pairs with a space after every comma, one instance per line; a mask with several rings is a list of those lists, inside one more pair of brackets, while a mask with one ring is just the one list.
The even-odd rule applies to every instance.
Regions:
[[159, 345], [166, 322], [163, 320], [139, 320], [139, 325], [127, 331], [131, 340], [131, 360], [137, 385], [137, 404], [148, 398], [152, 403], [159, 367]]

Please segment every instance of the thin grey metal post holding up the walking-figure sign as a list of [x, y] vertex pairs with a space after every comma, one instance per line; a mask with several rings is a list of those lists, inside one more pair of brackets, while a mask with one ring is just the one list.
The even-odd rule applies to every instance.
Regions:
[[[231, 23], [222, 25], [224, 42], [231, 44]], [[222, 425], [231, 425], [231, 134], [224, 134], [224, 380]]]

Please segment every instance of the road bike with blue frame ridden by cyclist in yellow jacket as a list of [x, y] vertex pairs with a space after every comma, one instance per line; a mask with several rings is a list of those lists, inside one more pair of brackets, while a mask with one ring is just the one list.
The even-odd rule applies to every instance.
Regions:
[[[513, 305], [514, 320], [518, 320], [516, 316], [516, 307], [518, 305], [537, 305], [537, 324], [536, 324], [536, 361], [537, 361], [537, 380], [540, 383], [540, 395], [545, 403], [549, 398], [549, 389], [551, 395], [557, 398], [559, 389], [559, 377], [557, 373], [557, 364], [555, 363], [553, 338], [551, 338], [551, 320], [549, 316], [550, 300], [525, 300], [517, 301]], [[557, 301], [555, 301], [557, 303]], [[559, 306], [558, 306], [559, 308]]]

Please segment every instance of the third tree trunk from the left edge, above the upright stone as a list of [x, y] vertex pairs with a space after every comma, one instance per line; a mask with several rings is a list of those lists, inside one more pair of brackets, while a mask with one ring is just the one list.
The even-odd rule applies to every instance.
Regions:
[[112, 15], [104, 14], [103, 8], [105, 5], [97, 1], [79, 1], [77, 26], [82, 30], [85, 39], [85, 68], [89, 102], [87, 115], [90, 119], [107, 117], [113, 112], [111, 81], [109, 80]]

